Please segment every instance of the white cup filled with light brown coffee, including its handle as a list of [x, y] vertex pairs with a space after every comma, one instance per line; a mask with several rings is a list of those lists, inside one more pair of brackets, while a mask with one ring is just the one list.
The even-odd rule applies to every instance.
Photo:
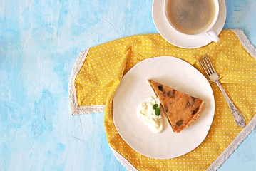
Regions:
[[219, 14], [217, 0], [165, 0], [165, 16], [176, 31], [188, 35], [205, 33], [219, 41], [213, 28]]

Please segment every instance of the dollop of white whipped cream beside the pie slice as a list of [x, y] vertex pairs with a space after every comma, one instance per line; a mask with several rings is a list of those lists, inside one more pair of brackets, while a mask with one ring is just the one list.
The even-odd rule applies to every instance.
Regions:
[[163, 130], [163, 118], [161, 115], [155, 115], [155, 110], [153, 109], [155, 104], [158, 104], [158, 107], [160, 106], [158, 98], [148, 98], [138, 105], [137, 115], [153, 133], [160, 133]]

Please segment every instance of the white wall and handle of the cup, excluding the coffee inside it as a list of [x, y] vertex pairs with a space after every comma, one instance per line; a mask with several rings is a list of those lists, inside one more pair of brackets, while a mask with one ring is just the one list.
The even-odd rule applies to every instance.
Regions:
[[[219, 5], [219, 1], [218, 0], [212, 0], [215, 4], [215, 14], [214, 14], [214, 17], [213, 17], [213, 20], [212, 22], [210, 23], [210, 25], [203, 29], [203, 31], [200, 31], [199, 33], [184, 33], [183, 31], [180, 31], [178, 28], [176, 28], [172, 22], [170, 21], [169, 17], [168, 17], [168, 1], [172, 1], [172, 0], [165, 0], [165, 17], [166, 19], [168, 20], [168, 23], [170, 24], [170, 26], [172, 28], [174, 28], [176, 31], [180, 32], [180, 33], [183, 33], [183, 34], [186, 34], [186, 35], [200, 35], [200, 34], [205, 34], [205, 36], [208, 36], [208, 38], [210, 38], [212, 41], [219, 41], [220, 38], [217, 36], [217, 33], [215, 33], [215, 31], [213, 31], [213, 26], [215, 25], [216, 21], [217, 21], [217, 17], [219, 16], [219, 11], [220, 11], [220, 5]], [[205, 0], [205, 1], [209, 1], [209, 0]]]

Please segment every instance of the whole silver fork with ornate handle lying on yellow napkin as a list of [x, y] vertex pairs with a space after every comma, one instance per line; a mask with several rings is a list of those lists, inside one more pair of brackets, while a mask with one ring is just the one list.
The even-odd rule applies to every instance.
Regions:
[[219, 76], [217, 75], [215, 69], [213, 68], [213, 64], [210, 62], [210, 58], [208, 55], [202, 56], [199, 60], [200, 65], [203, 67], [203, 70], [207, 74], [208, 78], [210, 78], [210, 81], [213, 81], [217, 84], [217, 86], [220, 88], [222, 94], [224, 95], [225, 100], [227, 101], [228, 106], [230, 107], [231, 113], [233, 115], [233, 118], [235, 120], [235, 123], [244, 128], [245, 127], [245, 118], [242, 116], [242, 114], [235, 108], [235, 105], [232, 103], [230, 98], [225, 93], [225, 90], [222, 88], [219, 82]]

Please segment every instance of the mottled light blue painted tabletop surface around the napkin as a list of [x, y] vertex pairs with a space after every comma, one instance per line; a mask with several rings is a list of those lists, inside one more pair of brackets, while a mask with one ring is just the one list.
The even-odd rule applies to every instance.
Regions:
[[[225, 28], [256, 45], [256, 1], [227, 0]], [[152, 1], [0, 0], [0, 170], [125, 170], [106, 142], [103, 113], [69, 113], [80, 51], [157, 33]], [[255, 130], [220, 170], [255, 170]]]

